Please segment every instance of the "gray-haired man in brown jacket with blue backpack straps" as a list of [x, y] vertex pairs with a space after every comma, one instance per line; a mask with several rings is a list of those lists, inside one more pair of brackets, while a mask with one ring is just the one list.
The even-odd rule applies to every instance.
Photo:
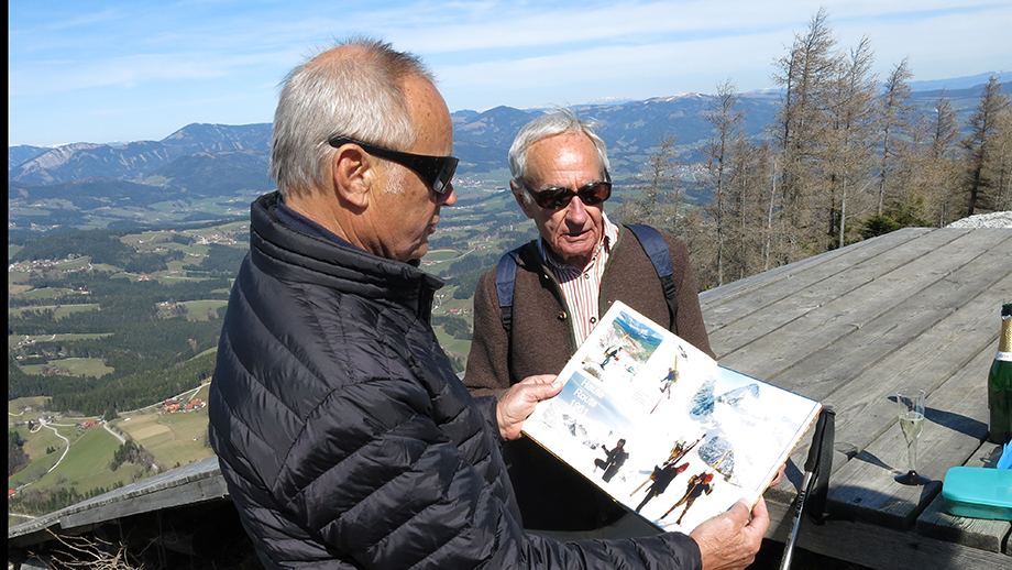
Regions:
[[[605, 216], [608, 158], [587, 123], [564, 109], [534, 120], [517, 134], [509, 167], [514, 196], [540, 237], [519, 250], [510, 331], [501, 322], [496, 272], [479, 281], [464, 377], [473, 394], [501, 394], [526, 376], [559, 373], [615, 300], [713, 355], [685, 245], [661, 233], [675, 313], [636, 234]], [[530, 440], [509, 442], [505, 456], [526, 527], [572, 537], [649, 531], [630, 528], [629, 517], [619, 522], [620, 507]]]

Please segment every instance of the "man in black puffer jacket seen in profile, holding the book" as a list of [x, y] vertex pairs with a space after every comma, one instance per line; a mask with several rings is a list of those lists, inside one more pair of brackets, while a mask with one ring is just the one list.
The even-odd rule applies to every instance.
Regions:
[[[397, 149], [396, 151], [392, 149]], [[268, 568], [740, 568], [738, 505], [693, 533], [561, 544], [524, 533], [499, 446], [558, 393], [470, 396], [418, 268], [457, 197], [446, 103], [421, 64], [356, 40], [289, 75], [278, 193], [253, 204], [211, 384], [210, 437]], [[761, 505], [761, 504], [760, 504]]]

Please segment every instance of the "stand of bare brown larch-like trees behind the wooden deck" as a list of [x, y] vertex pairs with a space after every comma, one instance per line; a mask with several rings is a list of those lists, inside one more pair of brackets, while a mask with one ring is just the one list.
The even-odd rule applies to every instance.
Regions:
[[[967, 124], [942, 91], [910, 102], [906, 59], [871, 72], [868, 37], [838, 45], [820, 10], [774, 65], [781, 89], [761, 138], [744, 134], [732, 79], [705, 118], [702, 165], [678, 160], [674, 133], [636, 177], [614, 218], [650, 223], [689, 245], [701, 289], [904, 227], [944, 227], [1012, 209], [1012, 109], [992, 77]], [[683, 176], [686, 171], [692, 176]], [[686, 193], [711, 196], [694, 207]]]

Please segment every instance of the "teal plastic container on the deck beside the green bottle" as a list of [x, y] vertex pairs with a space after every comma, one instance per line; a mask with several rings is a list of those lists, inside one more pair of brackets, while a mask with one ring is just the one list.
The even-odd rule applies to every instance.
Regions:
[[1012, 520], [1012, 469], [954, 467], [945, 473], [942, 497], [950, 515]]

